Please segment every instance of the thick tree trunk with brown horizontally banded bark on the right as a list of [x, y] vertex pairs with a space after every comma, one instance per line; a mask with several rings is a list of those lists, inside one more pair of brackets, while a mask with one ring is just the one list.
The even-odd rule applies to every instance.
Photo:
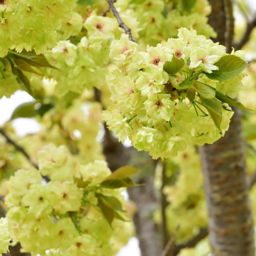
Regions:
[[[233, 39], [230, 38], [233, 36], [232, 20], [227, 20], [230, 12], [225, 14], [228, 1], [209, 0], [212, 5], [209, 24], [218, 33], [214, 41], [222, 45], [229, 45]], [[199, 147], [209, 214], [210, 244], [213, 256], [254, 256], [254, 226], [246, 182], [242, 113], [236, 107], [233, 110], [236, 112], [225, 136], [211, 145]]]

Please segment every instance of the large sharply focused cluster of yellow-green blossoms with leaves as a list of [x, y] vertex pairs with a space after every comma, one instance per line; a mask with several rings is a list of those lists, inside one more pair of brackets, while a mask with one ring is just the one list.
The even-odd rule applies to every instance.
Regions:
[[[140, 52], [124, 34], [110, 46], [110, 59], [118, 69], [106, 79], [117, 103], [103, 112], [103, 119], [120, 141], [128, 136], [135, 148], [153, 158], [175, 157], [189, 144], [213, 143], [220, 132], [223, 136], [233, 113], [215, 92], [226, 97], [221, 101], [236, 105], [231, 98], [241, 90], [244, 76], [238, 71], [231, 79], [209, 79], [219, 70], [215, 63], [227, 55], [225, 46], [192, 28], [178, 31], [177, 39], [147, 46], [147, 52]], [[232, 61], [247, 65], [241, 51], [232, 54]]]

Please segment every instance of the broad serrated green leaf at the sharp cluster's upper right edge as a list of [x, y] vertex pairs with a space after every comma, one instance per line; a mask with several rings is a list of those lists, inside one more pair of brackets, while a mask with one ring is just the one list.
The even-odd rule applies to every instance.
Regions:
[[223, 56], [214, 64], [219, 70], [212, 70], [212, 73], [203, 72], [208, 78], [218, 81], [226, 81], [239, 75], [248, 65], [246, 61], [235, 55]]

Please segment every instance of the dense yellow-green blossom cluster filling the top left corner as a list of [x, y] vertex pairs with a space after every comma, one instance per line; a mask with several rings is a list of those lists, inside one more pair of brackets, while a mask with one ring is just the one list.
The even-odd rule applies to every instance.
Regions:
[[71, 17], [74, 0], [2, 0], [0, 2], [0, 57], [8, 49], [45, 53], [57, 44], [56, 30]]

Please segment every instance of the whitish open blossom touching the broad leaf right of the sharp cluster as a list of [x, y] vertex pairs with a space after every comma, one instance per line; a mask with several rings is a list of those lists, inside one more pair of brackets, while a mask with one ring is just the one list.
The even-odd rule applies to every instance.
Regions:
[[197, 68], [198, 70], [202, 69], [207, 73], [212, 73], [212, 70], [219, 69], [218, 67], [212, 65], [216, 63], [219, 59], [221, 59], [220, 56], [210, 55], [207, 50], [200, 47], [194, 47], [191, 50], [190, 54], [191, 63], [189, 65], [189, 68]]

